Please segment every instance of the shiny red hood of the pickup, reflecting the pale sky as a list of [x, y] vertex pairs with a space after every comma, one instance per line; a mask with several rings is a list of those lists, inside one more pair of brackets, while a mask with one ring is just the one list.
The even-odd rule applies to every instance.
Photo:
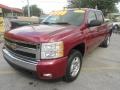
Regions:
[[5, 38], [35, 43], [59, 41], [72, 33], [75, 28], [71, 25], [25, 26], [7, 31]]

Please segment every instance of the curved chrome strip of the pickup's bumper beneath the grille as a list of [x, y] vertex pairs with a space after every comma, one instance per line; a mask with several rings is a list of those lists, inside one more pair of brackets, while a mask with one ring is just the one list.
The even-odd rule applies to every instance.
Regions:
[[9, 61], [17, 66], [20, 66], [20, 67], [25, 68], [30, 71], [36, 71], [37, 64], [26, 62], [22, 59], [16, 58], [13, 55], [11, 55], [11, 53], [9, 53], [5, 48], [3, 48], [3, 56], [5, 57], [5, 59], [7, 59], [7, 61]]

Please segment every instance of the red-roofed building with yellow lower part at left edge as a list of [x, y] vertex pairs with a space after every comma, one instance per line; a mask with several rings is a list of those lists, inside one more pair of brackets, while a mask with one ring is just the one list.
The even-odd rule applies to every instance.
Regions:
[[0, 4], [0, 33], [10, 30], [10, 19], [17, 19], [17, 16], [22, 16], [23, 10], [19, 8], [12, 8]]

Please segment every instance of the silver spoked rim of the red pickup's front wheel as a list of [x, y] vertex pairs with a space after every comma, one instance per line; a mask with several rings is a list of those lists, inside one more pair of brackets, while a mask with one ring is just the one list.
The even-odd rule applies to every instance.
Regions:
[[80, 70], [80, 58], [75, 57], [72, 61], [71, 68], [70, 68], [70, 74], [72, 77], [76, 77], [79, 70]]

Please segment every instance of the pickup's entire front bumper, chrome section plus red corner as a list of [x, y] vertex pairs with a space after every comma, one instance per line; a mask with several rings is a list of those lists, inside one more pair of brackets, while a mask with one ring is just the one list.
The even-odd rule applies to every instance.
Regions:
[[3, 56], [10, 63], [30, 71], [35, 71], [41, 79], [56, 79], [63, 77], [66, 73], [67, 57], [54, 60], [40, 60], [35, 64], [12, 56], [12, 54], [4, 48]]

